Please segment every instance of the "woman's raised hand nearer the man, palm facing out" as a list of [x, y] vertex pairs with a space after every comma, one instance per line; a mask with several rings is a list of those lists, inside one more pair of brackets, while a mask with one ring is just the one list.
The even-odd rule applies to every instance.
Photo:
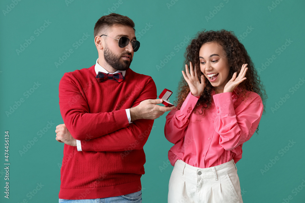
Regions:
[[203, 93], [205, 83], [204, 83], [204, 75], [201, 75], [201, 83], [198, 79], [196, 66], [195, 71], [193, 70], [192, 62], [190, 61], [190, 73], [188, 72], [188, 65], [185, 64], [185, 72], [182, 71], [182, 75], [185, 81], [188, 83], [188, 86], [191, 90], [193, 96], [200, 96]]

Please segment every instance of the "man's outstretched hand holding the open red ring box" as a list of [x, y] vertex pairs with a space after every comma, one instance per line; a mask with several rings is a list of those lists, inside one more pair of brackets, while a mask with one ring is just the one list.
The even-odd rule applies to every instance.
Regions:
[[130, 108], [131, 121], [138, 119], [154, 120], [162, 116], [166, 111], [171, 111], [176, 107], [161, 107], [156, 105], [162, 103], [162, 99], [144, 100], [138, 106]]

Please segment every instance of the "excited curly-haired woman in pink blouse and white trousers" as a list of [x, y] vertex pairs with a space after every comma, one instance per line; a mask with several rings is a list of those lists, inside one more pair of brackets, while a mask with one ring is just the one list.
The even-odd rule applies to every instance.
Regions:
[[188, 61], [164, 129], [174, 144], [168, 202], [242, 202], [235, 163], [258, 130], [266, 92], [232, 32], [198, 33], [186, 49]]

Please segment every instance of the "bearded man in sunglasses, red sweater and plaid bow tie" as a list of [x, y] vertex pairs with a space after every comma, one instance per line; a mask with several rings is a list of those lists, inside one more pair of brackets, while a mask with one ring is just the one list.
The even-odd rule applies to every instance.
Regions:
[[66, 144], [59, 202], [142, 201], [143, 146], [154, 119], [175, 107], [156, 105], [162, 100], [152, 78], [129, 68], [140, 46], [134, 26], [127, 16], [102, 16], [94, 27], [96, 64], [59, 82], [65, 124], [56, 140]]

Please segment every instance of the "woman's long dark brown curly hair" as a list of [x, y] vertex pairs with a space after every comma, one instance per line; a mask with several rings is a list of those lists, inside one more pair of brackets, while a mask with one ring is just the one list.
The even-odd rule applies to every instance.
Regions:
[[[248, 64], [247, 65], [248, 70], [245, 76], [247, 79], [239, 84], [241, 92], [237, 93], [238, 97], [241, 96], [242, 100], [245, 100], [247, 98], [246, 90], [259, 94], [263, 101], [264, 112], [265, 112], [265, 103], [267, 99], [266, 90], [264, 89], [263, 83], [260, 81], [260, 76], [257, 74], [257, 70], [254, 68], [253, 62], [250, 56], [248, 55], [244, 45], [242, 45], [239, 42], [234, 32], [227, 30], [219, 30], [219, 31], [203, 30], [197, 33], [196, 37], [190, 42], [190, 44], [186, 48], [184, 54], [185, 57], [184, 64], [188, 64], [188, 67], [190, 67], [189, 61], [191, 61], [193, 67], [195, 66], [200, 67], [199, 50], [204, 43], [208, 43], [208, 42], [216, 42], [223, 47], [224, 51], [227, 54], [228, 65], [230, 67], [230, 71], [229, 71], [230, 78], [232, 78], [234, 72], [237, 72], [237, 75], [239, 74], [243, 64], [246, 63]], [[184, 68], [182, 69], [184, 70]], [[196, 68], [196, 71], [197, 71], [198, 79], [200, 81], [200, 77], [201, 75], [203, 75], [203, 73], [200, 71], [200, 68]], [[213, 86], [211, 85], [209, 80], [206, 77], [204, 77], [204, 80], [206, 84], [204, 91], [200, 95], [200, 98], [194, 108], [195, 113], [199, 113], [203, 115], [204, 115], [204, 111], [211, 106], [212, 103], [211, 93], [213, 90]], [[185, 79], [182, 76], [178, 87], [178, 98], [176, 101], [174, 101], [176, 103], [178, 110], [181, 108], [181, 105], [188, 96], [189, 92], [190, 92], [190, 88], [188, 87], [188, 83], [185, 81]], [[199, 112], [198, 110], [198, 107], [200, 105], [202, 105], [201, 112]]]

